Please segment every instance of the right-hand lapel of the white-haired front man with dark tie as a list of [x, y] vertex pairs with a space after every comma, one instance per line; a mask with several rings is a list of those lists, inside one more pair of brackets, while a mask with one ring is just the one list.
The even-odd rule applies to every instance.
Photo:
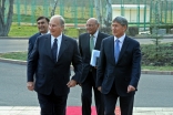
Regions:
[[59, 50], [59, 55], [58, 55], [58, 60], [61, 58], [62, 53], [64, 52], [64, 50], [67, 49], [68, 46], [68, 39], [65, 35], [62, 34], [62, 41], [61, 41], [61, 48]]

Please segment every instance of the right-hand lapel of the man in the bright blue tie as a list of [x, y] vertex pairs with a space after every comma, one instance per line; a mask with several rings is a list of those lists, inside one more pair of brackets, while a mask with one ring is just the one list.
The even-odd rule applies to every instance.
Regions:
[[[124, 42], [123, 42], [123, 45], [122, 45], [122, 48], [121, 48], [119, 61], [121, 60], [122, 55], [124, 54], [124, 52], [125, 52], [128, 45], [129, 45], [129, 38], [125, 36]], [[118, 62], [119, 62], [119, 61], [118, 61]]]

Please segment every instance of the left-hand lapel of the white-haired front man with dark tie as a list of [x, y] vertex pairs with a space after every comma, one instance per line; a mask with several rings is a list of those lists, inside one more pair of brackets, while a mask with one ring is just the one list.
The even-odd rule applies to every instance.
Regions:
[[48, 53], [48, 55], [52, 59], [52, 52], [51, 52], [51, 34], [47, 35], [45, 38], [45, 42], [44, 42], [44, 46], [45, 46], [45, 52]]

